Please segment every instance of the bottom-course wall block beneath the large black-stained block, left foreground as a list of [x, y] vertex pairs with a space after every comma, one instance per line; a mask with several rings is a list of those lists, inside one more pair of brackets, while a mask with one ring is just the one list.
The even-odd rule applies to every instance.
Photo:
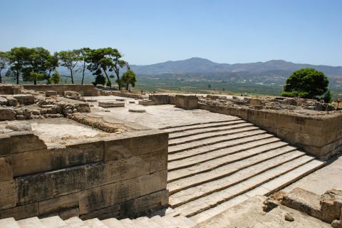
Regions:
[[63, 195], [52, 199], [38, 202], [39, 214], [49, 214], [51, 212], [60, 212], [72, 207], [78, 207], [79, 192]]

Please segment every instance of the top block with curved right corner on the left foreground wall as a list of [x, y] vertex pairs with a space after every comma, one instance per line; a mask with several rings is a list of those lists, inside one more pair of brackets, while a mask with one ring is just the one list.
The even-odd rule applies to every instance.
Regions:
[[14, 132], [9, 133], [9, 135], [11, 136], [12, 153], [46, 149], [43, 140], [39, 139], [32, 132]]

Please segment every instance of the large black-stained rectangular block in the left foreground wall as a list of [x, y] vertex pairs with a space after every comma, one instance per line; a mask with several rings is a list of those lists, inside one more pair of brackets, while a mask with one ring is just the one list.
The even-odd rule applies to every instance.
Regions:
[[28, 204], [44, 199], [85, 190], [86, 168], [84, 165], [53, 172], [26, 175], [16, 178], [18, 204]]

